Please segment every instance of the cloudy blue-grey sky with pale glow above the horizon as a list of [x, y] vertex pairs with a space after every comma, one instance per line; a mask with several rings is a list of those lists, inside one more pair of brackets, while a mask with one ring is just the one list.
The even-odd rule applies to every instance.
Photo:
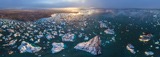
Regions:
[[0, 8], [160, 8], [160, 0], [0, 0]]

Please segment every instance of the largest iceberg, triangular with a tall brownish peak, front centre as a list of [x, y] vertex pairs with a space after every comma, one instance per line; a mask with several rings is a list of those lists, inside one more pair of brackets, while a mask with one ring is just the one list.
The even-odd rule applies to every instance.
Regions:
[[88, 42], [82, 42], [77, 44], [74, 48], [89, 52], [93, 55], [101, 54], [101, 40], [99, 36], [95, 36]]

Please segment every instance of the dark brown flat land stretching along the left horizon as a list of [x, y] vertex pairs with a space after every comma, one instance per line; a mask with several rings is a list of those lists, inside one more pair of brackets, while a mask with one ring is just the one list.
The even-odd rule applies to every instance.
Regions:
[[69, 10], [15, 10], [15, 9], [6, 9], [0, 10], [1, 19], [11, 19], [18, 21], [35, 21], [40, 18], [51, 17], [51, 14], [54, 13], [77, 13]]

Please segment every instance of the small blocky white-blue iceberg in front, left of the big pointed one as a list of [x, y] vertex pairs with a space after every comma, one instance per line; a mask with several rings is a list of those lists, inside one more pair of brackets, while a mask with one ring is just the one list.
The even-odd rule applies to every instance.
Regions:
[[53, 46], [53, 48], [52, 48], [52, 53], [57, 53], [57, 52], [60, 52], [61, 50], [63, 50], [64, 49], [64, 43], [52, 43], [52, 46]]

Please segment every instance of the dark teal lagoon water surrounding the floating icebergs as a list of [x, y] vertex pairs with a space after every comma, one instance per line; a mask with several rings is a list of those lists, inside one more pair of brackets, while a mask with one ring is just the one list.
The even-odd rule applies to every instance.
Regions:
[[[143, 14], [137, 14], [137, 16], [127, 15], [127, 13], [96, 13], [87, 16], [75, 16], [77, 19], [55, 19], [50, 17], [42, 18], [34, 22], [1, 19], [0, 22], [3, 23], [0, 24], [0, 29], [2, 30], [6, 30], [7, 28], [11, 28], [13, 26], [13, 29], [16, 31], [24, 29], [24, 32], [31, 31], [30, 33], [32, 33], [34, 30], [42, 32], [47, 30], [48, 33], [51, 33], [49, 29], [53, 29], [52, 31], [64, 31], [63, 33], [59, 32], [58, 34], [65, 34], [68, 32], [74, 33], [76, 37], [74, 42], [63, 42], [61, 40], [61, 36], [55, 36], [55, 38], [51, 40], [47, 40], [43, 37], [39, 43], [34, 43], [36, 39], [34, 39], [34, 41], [30, 41], [31, 37], [29, 36], [26, 36], [27, 38], [22, 38], [22, 36], [14, 38], [11, 36], [13, 39], [18, 39], [17, 43], [13, 46], [18, 47], [22, 42], [20, 40], [23, 40], [42, 47], [42, 50], [37, 53], [19, 53], [17, 47], [12, 48], [13, 46], [3, 46], [3, 44], [8, 43], [9, 40], [5, 41], [3, 37], [1, 37], [0, 57], [151, 57], [146, 56], [144, 53], [145, 51], [152, 51], [154, 52], [153, 57], [160, 57], [160, 49], [156, 49], [156, 47], [160, 47], [160, 44], [155, 44], [156, 41], [160, 42], [160, 17], [154, 17], [154, 14], [148, 13], [148, 11], [142, 11]], [[100, 28], [100, 21], [105, 23], [108, 28], [114, 29], [115, 34], [105, 34], [104, 30], [107, 28]], [[20, 24], [13, 23], [11, 24], [11, 27], [2, 28], [2, 25], [9, 25], [11, 22], [18, 22]], [[53, 22], [55, 23], [53, 24]], [[61, 25], [62, 22], [65, 22], [66, 24]], [[86, 26], [84, 26], [84, 23]], [[36, 25], [36, 27], [30, 26], [31, 24]], [[16, 29], [15, 26], [17, 25], [20, 26], [20, 28]], [[62, 28], [56, 27], [57, 25], [60, 25]], [[27, 27], [31, 27], [32, 29], [27, 29]], [[84, 30], [81, 30], [81, 28]], [[153, 34], [153, 38], [149, 42], [140, 42], [139, 37], [143, 32]], [[9, 35], [9, 32], [7, 31], [2, 31], [0, 33], [4, 36]], [[47, 32], [43, 33], [44, 35], [47, 34]], [[80, 33], [83, 34], [82, 37], [78, 37]], [[23, 33], [20, 34], [23, 35]], [[38, 35], [38, 33], [33, 33], [33, 35], [30, 34], [30, 36], [33, 36], [32, 38], [34, 38], [35, 35]], [[94, 56], [88, 52], [74, 49], [74, 46], [78, 43], [87, 41], [84, 40], [85, 35], [88, 36], [89, 39], [96, 35], [100, 36], [102, 40], [102, 54]], [[66, 47], [64, 50], [52, 54], [52, 42], [63, 42]], [[135, 47], [136, 54], [132, 54], [126, 49], [127, 44], [132, 44]], [[44, 47], [46, 49], [43, 49]], [[9, 55], [8, 51], [14, 51], [14, 53]]]

